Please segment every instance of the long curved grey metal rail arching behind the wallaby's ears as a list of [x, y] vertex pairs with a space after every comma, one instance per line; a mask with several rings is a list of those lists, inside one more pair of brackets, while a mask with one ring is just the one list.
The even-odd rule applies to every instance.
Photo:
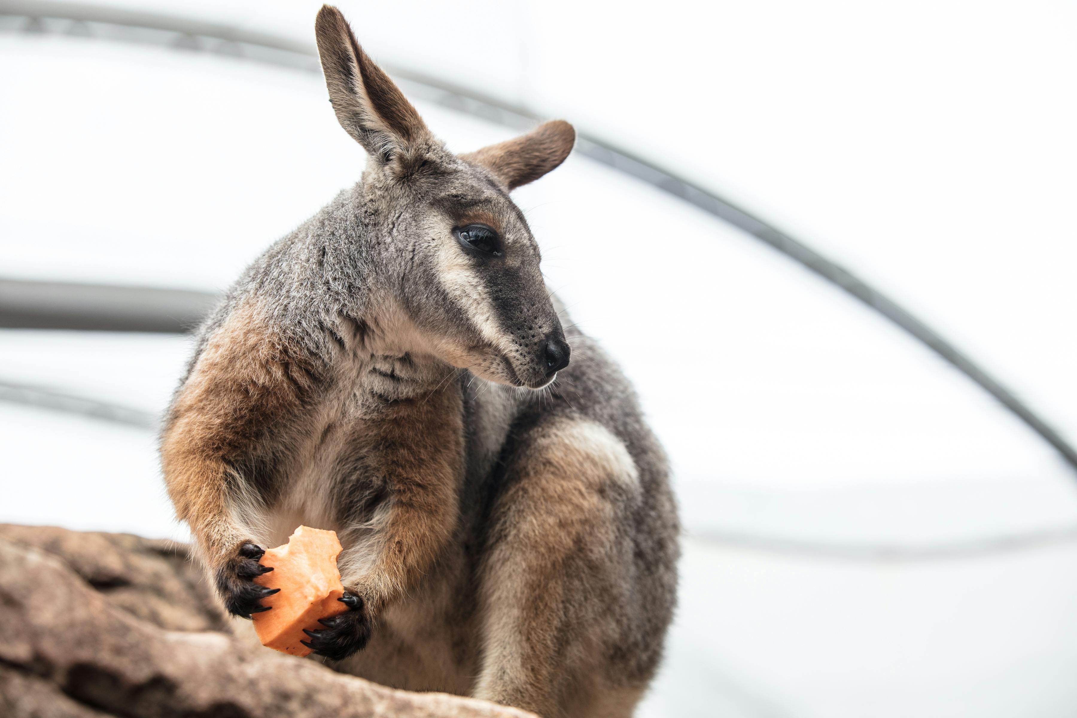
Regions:
[[[321, 72], [318, 53], [312, 43], [178, 16], [52, 0], [0, 0], [0, 20], [2, 20], [0, 30], [72, 34], [166, 45], [307, 72]], [[387, 69], [390, 74], [403, 81], [402, 84], [410, 94], [459, 112], [517, 129], [533, 126], [541, 119], [537, 113], [527, 108], [513, 105], [408, 70], [391, 67]], [[1040, 419], [1013, 392], [911, 312], [848, 269], [718, 195], [600, 138], [586, 132], [579, 133], [576, 152], [680, 197], [766, 242], [827, 281], [837, 284], [925, 343], [979, 384], [1054, 447], [1063, 459], [1077, 469], [1077, 450], [1074, 450], [1061, 434]]]

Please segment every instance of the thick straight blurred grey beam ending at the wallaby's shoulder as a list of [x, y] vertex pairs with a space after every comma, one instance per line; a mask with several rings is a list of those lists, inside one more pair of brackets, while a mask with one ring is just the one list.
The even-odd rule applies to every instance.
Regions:
[[0, 327], [183, 334], [216, 300], [188, 290], [0, 279]]

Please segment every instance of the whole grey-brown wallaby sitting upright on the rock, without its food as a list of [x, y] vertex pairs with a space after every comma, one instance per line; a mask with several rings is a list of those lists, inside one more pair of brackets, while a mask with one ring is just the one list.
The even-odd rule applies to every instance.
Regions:
[[666, 460], [617, 367], [562, 328], [508, 197], [575, 133], [453, 155], [336, 9], [317, 36], [367, 167], [201, 327], [162, 437], [177, 513], [248, 617], [262, 547], [335, 530], [350, 610], [310, 646], [341, 670], [630, 715], [674, 604]]

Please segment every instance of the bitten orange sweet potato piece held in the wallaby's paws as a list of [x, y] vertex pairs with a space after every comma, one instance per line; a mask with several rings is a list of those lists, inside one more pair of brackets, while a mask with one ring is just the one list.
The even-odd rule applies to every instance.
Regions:
[[318, 619], [348, 610], [337, 601], [344, 595], [336, 565], [340, 550], [335, 531], [299, 526], [288, 544], [265, 552], [262, 564], [274, 569], [254, 580], [280, 591], [262, 600], [269, 610], [253, 616], [263, 646], [306, 656], [310, 649], [299, 643], [308, 640], [303, 630], [324, 628]]

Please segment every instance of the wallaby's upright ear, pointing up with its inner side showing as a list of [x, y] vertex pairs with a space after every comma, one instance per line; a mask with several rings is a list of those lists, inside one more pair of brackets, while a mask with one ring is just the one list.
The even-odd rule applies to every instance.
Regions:
[[359, 46], [339, 10], [322, 5], [314, 33], [333, 110], [367, 154], [388, 163], [430, 137], [416, 109]]

